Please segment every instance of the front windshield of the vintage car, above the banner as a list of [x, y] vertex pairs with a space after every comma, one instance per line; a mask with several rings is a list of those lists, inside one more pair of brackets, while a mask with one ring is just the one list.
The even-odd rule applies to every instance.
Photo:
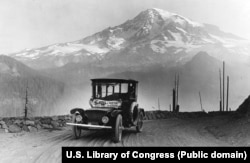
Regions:
[[93, 83], [93, 98], [118, 100], [126, 98], [128, 83]]

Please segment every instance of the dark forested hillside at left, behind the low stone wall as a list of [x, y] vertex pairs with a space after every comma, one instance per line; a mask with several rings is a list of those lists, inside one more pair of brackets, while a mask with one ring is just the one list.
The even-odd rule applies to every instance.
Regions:
[[0, 56], [0, 116], [23, 116], [28, 87], [29, 116], [48, 114], [55, 109], [64, 84], [43, 76], [23, 63]]

